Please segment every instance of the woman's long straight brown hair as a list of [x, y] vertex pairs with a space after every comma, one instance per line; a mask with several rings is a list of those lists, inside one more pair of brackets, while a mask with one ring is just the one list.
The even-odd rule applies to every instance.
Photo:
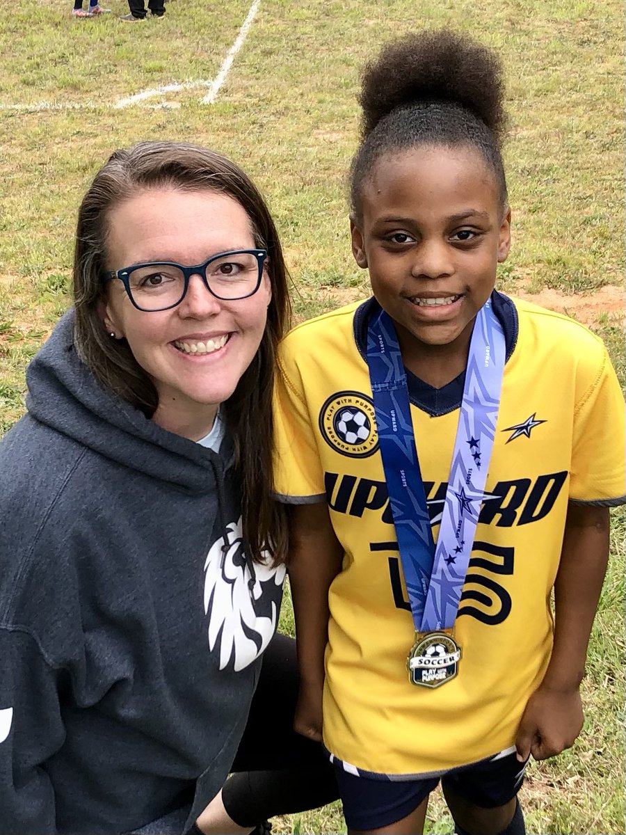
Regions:
[[210, 190], [232, 197], [247, 212], [255, 245], [268, 252], [271, 301], [267, 324], [250, 367], [221, 413], [235, 443], [241, 485], [244, 539], [255, 562], [269, 553], [285, 560], [287, 533], [282, 505], [273, 498], [271, 398], [275, 352], [290, 316], [288, 273], [265, 200], [240, 168], [214, 151], [181, 142], [141, 142], [118, 150], [103, 165], [78, 211], [73, 291], [76, 349], [105, 387], [152, 417], [158, 405], [153, 382], [125, 340], [111, 339], [98, 312], [100, 275], [108, 269], [106, 241], [111, 211], [139, 191], [156, 187]]

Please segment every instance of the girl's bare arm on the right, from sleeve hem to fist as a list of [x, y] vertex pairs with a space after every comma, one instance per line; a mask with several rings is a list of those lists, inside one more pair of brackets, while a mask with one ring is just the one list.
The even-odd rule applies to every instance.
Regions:
[[583, 727], [583, 680], [593, 616], [608, 562], [608, 508], [570, 504], [554, 583], [554, 645], [546, 675], [517, 731], [517, 758], [553, 757]]

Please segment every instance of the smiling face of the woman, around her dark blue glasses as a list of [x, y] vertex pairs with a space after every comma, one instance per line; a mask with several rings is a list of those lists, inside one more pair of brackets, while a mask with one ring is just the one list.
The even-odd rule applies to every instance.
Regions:
[[[144, 190], [109, 214], [112, 271], [144, 261], [190, 266], [242, 249], [255, 249], [250, 218], [240, 203], [215, 191]], [[104, 326], [126, 339], [159, 394], [153, 420], [185, 438], [202, 438], [259, 348], [271, 299], [267, 273], [253, 296], [237, 301], [216, 299], [200, 276], [191, 276], [183, 301], [166, 311], [137, 310], [118, 280], [108, 282], [106, 293]]]

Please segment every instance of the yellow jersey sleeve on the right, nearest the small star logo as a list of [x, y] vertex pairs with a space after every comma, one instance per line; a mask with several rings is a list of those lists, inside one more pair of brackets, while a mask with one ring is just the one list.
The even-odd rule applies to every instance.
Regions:
[[586, 375], [574, 409], [571, 501], [624, 504], [624, 431], [622, 390], [601, 345], [599, 362], [593, 375]]

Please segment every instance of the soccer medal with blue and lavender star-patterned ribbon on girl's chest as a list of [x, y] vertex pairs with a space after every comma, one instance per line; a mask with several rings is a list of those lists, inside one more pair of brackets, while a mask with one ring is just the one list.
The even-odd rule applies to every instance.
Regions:
[[[506, 344], [491, 300], [478, 311], [437, 547], [411, 422], [406, 372], [391, 317], [367, 332], [367, 364], [391, 511], [416, 630], [411, 681], [437, 687], [457, 675], [457, 619], [496, 432]], [[421, 635], [426, 637], [421, 638]]]

